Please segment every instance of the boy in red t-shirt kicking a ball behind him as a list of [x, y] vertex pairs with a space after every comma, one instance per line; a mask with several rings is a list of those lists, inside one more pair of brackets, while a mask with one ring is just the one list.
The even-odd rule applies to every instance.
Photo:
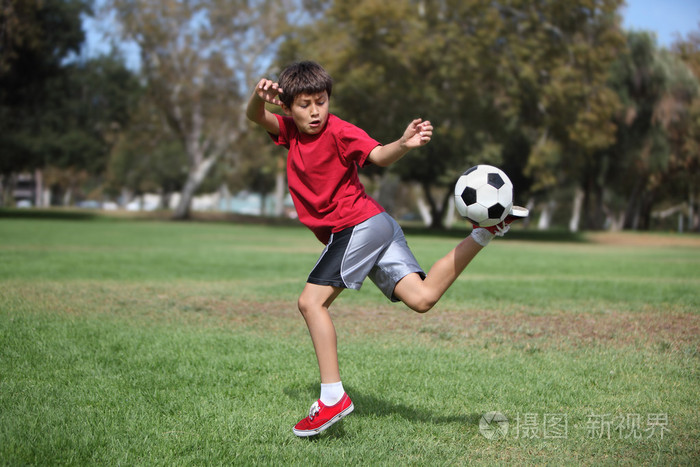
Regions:
[[[261, 79], [246, 111], [277, 145], [289, 150], [287, 178], [299, 220], [326, 245], [298, 301], [318, 360], [321, 396], [294, 427], [297, 436], [316, 435], [354, 408], [340, 379], [336, 333], [328, 313], [344, 289], [359, 290], [369, 277], [390, 300], [425, 313], [495, 235], [502, 236], [510, 222], [527, 216], [526, 210], [518, 210], [498, 226], [476, 226], [425, 274], [401, 228], [365, 193], [357, 166], [393, 164], [428, 144], [433, 126], [415, 119], [398, 140], [382, 145], [329, 113], [332, 84], [317, 63], [294, 63], [282, 71], [279, 82]], [[286, 116], [269, 112], [266, 102], [281, 106]]]

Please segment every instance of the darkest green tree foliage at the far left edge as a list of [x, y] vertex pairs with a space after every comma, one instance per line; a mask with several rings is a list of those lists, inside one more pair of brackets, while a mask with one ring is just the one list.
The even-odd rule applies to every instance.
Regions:
[[0, 65], [0, 174], [42, 169], [56, 195], [103, 174], [138, 97], [120, 59], [77, 58], [88, 12], [82, 0], [10, 1], [3, 9], [12, 40]]

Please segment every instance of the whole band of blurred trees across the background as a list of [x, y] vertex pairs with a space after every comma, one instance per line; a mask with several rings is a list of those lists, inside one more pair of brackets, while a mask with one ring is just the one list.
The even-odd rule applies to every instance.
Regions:
[[334, 77], [332, 111], [376, 139], [433, 122], [431, 144], [369, 173], [421, 187], [436, 227], [477, 163], [574, 230], [649, 228], [662, 208], [698, 227], [700, 32], [659, 48], [622, 30], [622, 0], [105, 0], [136, 72], [79, 54], [90, 5], [4, 3], [0, 173], [179, 191], [178, 218], [213, 183], [280, 193], [282, 153], [243, 108], [260, 77], [312, 59]]

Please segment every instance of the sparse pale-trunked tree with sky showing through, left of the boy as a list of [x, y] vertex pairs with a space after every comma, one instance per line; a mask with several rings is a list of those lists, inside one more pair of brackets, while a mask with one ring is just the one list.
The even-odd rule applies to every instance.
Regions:
[[148, 96], [188, 158], [175, 218], [224, 155], [240, 157], [243, 106], [284, 33], [285, 0], [110, 0], [123, 37], [141, 52]]

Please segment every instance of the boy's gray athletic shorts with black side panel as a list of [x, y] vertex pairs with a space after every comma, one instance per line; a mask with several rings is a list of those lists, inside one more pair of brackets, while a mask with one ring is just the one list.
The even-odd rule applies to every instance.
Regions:
[[425, 278], [401, 227], [382, 212], [332, 234], [307, 282], [360, 290], [369, 277], [387, 298], [397, 302], [396, 283], [412, 272]]

